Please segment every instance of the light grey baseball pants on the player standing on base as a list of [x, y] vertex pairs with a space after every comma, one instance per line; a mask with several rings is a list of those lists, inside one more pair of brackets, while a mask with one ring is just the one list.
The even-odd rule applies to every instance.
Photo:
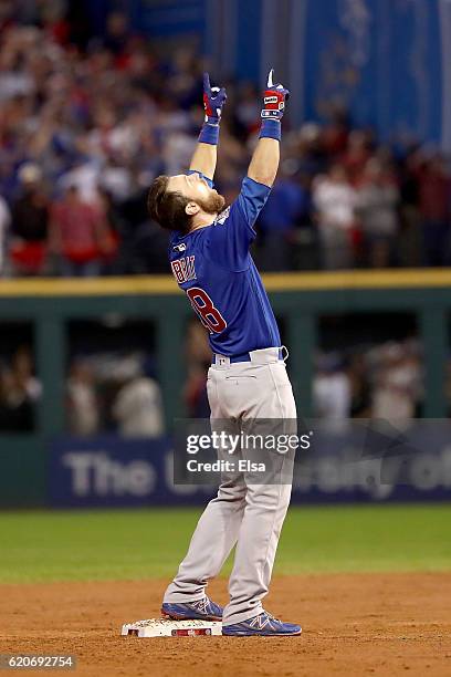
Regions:
[[[291, 433], [296, 433], [296, 405], [279, 348], [253, 351], [250, 355], [251, 362], [235, 364], [217, 355], [210, 367], [207, 389], [212, 428], [216, 420], [220, 420], [221, 428], [227, 420], [230, 430], [239, 431], [244, 420], [250, 433], [255, 419], [289, 419]], [[165, 602], [201, 600], [208, 581], [219, 574], [237, 544], [223, 624], [240, 623], [261, 613], [290, 503], [292, 470], [293, 456], [277, 455], [271, 483], [256, 483], [255, 476], [248, 472], [222, 475], [218, 496], [201, 515], [188, 553], [166, 590]]]

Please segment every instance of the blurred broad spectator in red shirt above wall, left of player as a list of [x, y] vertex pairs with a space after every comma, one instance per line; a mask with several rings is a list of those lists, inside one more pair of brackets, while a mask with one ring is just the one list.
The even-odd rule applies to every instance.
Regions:
[[113, 247], [108, 226], [101, 208], [84, 202], [75, 186], [53, 205], [50, 248], [60, 257], [62, 274], [95, 277], [101, 272], [102, 256]]

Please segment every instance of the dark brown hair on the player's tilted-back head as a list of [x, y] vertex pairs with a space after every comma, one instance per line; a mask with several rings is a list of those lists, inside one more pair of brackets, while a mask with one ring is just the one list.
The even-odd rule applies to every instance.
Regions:
[[191, 217], [185, 208], [190, 200], [181, 192], [168, 190], [168, 181], [169, 177], [165, 175], [154, 179], [147, 196], [147, 210], [161, 228], [188, 232]]

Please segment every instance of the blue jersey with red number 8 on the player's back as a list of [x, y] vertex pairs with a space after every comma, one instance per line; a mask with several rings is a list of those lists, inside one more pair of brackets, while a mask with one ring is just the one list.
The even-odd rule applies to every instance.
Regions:
[[249, 252], [256, 235], [254, 222], [270, 191], [247, 177], [237, 200], [211, 226], [185, 236], [175, 232], [170, 239], [177, 283], [208, 329], [213, 353], [228, 357], [281, 345], [274, 313]]

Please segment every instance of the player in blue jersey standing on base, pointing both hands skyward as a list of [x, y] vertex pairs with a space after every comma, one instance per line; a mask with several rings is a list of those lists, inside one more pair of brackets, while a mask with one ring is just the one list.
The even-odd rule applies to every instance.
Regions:
[[[204, 74], [206, 118], [189, 171], [157, 177], [148, 195], [150, 216], [171, 231], [169, 258], [177, 283], [209, 331], [213, 358], [207, 390], [212, 425], [218, 419], [239, 424], [296, 418], [277, 324], [249, 252], [254, 222], [277, 173], [287, 97], [286, 88], [273, 84], [271, 71], [248, 176], [237, 200], [223, 210], [224, 198], [212, 179], [227, 95], [223, 88], [211, 88]], [[285, 462], [289, 459], [281, 456], [281, 473]], [[164, 615], [222, 621], [222, 633], [230, 636], [301, 633], [298, 625], [283, 623], [262, 606], [291, 496], [291, 481], [276, 479], [258, 483], [245, 471], [221, 475], [218, 496], [201, 515], [166, 590]], [[234, 545], [230, 602], [221, 608], [206, 595], [206, 586]]]

